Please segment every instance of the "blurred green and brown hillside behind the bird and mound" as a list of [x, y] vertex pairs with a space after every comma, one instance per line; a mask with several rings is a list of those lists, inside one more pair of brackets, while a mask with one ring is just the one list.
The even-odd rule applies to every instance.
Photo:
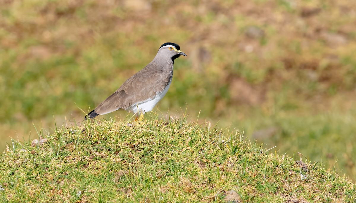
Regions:
[[1, 152], [81, 122], [174, 42], [188, 57], [155, 111], [200, 112], [356, 180], [356, 1], [1, 0], [0, 12]]

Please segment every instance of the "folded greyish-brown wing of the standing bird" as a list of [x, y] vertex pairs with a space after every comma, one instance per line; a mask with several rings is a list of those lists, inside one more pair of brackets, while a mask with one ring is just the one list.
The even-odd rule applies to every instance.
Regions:
[[[150, 64], [149, 64], [150, 65]], [[148, 65], [147, 65], [148, 66]], [[144, 68], [127, 79], [112, 95], [94, 109], [103, 115], [117, 109], [128, 109], [136, 103], [146, 101], [162, 92], [170, 82], [169, 73], [163, 70]]]

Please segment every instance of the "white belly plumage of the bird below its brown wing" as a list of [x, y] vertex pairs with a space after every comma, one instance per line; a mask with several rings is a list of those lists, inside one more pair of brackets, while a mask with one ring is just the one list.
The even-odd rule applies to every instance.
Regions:
[[140, 112], [143, 114], [146, 112], [152, 111], [153, 107], [155, 107], [156, 104], [164, 97], [164, 95], [166, 95], [170, 85], [171, 85], [171, 83], [169, 83], [166, 86], [166, 88], [164, 88], [164, 90], [162, 92], [157, 92], [158, 94], [155, 97], [148, 99], [144, 102], [137, 103], [137, 104], [133, 105], [132, 107], [128, 108], [126, 111], [130, 111], [133, 113]]

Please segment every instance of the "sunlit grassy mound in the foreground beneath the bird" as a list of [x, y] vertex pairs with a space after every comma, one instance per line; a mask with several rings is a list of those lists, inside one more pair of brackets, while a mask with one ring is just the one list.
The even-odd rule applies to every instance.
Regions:
[[318, 163], [271, 154], [184, 119], [94, 121], [0, 155], [1, 202], [354, 202], [356, 187]]

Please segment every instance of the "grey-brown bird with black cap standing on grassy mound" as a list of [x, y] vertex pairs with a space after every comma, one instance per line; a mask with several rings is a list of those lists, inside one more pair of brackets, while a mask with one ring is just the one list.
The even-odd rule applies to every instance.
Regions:
[[127, 79], [84, 119], [124, 109], [135, 113], [137, 120], [139, 116], [152, 111], [166, 95], [173, 78], [174, 60], [181, 55], [187, 56], [180, 50], [178, 44], [172, 42], [162, 44], [155, 58], [145, 68]]

